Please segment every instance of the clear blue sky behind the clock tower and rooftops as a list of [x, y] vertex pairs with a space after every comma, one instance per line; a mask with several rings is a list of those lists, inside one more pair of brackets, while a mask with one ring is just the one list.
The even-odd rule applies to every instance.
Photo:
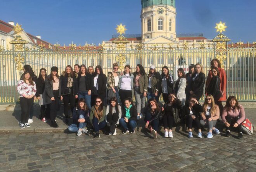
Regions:
[[[140, 34], [140, 0], [0, 0], [0, 20], [14, 21], [50, 43], [101, 43], [116, 34]], [[236, 43], [256, 41], [256, 0], [176, 0], [176, 33], [216, 36], [216, 22], [226, 22], [225, 35]]]

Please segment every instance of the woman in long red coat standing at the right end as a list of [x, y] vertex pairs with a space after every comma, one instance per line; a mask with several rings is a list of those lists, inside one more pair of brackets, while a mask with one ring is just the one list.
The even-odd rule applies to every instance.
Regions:
[[[226, 101], [227, 100], [227, 98], [226, 98], [227, 75], [225, 73], [225, 70], [221, 68], [220, 61], [217, 58], [214, 58], [213, 60], [211, 60], [211, 69], [213, 69], [213, 67], [217, 67], [218, 71], [219, 71], [219, 74], [220, 74], [220, 91], [222, 92], [223, 97], [221, 97], [216, 102], [216, 104], [220, 108], [220, 114], [222, 114], [222, 111], [223, 111], [224, 107], [223, 107], [221, 101]], [[208, 73], [208, 76], [207, 76], [207, 80], [206, 80], [206, 88], [208, 88], [208, 84], [211, 81], [211, 77], [212, 77], [212, 74], [211, 74], [211, 70], [210, 70], [209, 73]]]

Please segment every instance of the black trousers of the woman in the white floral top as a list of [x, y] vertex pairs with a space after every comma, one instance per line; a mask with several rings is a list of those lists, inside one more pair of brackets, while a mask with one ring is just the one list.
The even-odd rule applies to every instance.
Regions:
[[21, 105], [21, 124], [28, 123], [28, 117], [31, 107], [33, 106], [33, 101], [34, 97], [29, 99], [25, 97], [19, 98], [19, 103]]

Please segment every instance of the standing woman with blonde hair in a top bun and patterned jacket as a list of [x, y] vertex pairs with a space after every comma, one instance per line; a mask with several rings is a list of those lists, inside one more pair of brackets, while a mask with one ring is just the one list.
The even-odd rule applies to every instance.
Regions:
[[108, 72], [107, 74], [107, 104], [112, 97], [116, 97], [119, 102], [119, 93], [118, 93], [118, 84], [119, 84], [119, 74], [118, 74], [118, 64], [113, 64], [113, 71]]

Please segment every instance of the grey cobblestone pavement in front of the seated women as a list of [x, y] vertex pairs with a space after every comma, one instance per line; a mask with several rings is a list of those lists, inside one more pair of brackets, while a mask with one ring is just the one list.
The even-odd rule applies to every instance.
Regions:
[[[256, 136], [1, 134], [0, 171], [256, 171]], [[162, 133], [163, 134], [163, 133]], [[193, 133], [195, 134], [195, 133]]]

